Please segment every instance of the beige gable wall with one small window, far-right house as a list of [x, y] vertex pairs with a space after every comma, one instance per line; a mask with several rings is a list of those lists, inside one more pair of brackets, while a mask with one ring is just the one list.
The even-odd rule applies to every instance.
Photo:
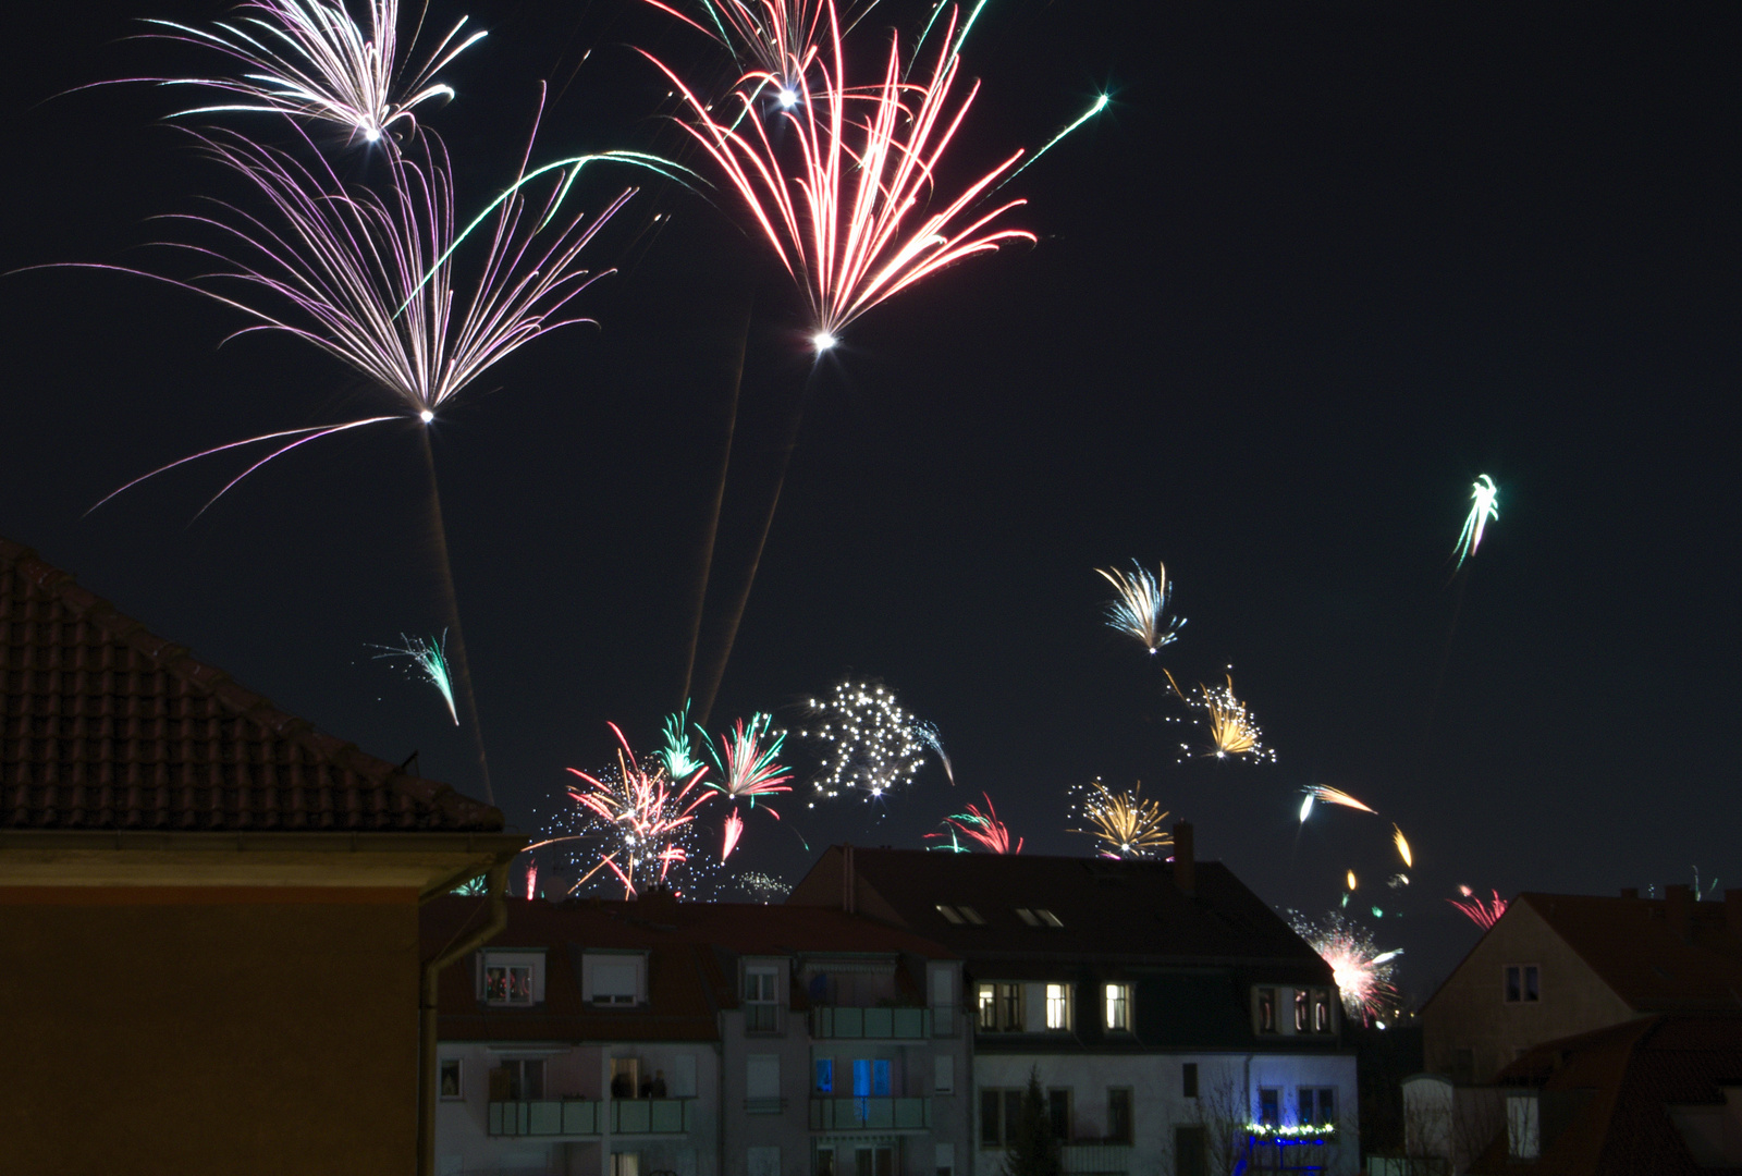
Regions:
[[[1503, 1000], [1509, 963], [1540, 969], [1542, 1000]], [[1486, 1084], [1531, 1045], [1636, 1016], [1529, 902], [1514, 902], [1421, 1010], [1423, 1064]], [[1460, 1049], [1470, 1051], [1467, 1077]]]

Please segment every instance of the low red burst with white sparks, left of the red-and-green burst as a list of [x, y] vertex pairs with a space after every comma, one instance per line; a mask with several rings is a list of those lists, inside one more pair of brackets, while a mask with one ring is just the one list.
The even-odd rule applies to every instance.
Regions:
[[580, 768], [570, 768], [592, 787], [585, 791], [570, 787], [568, 794], [589, 810], [604, 831], [615, 835], [617, 845], [601, 855], [601, 864], [617, 875], [627, 899], [638, 894], [636, 876], [643, 868], [657, 866], [658, 882], [665, 882], [674, 864], [690, 861], [681, 838], [693, 826], [695, 810], [707, 803], [712, 793], [697, 787], [699, 781], [693, 777], [676, 784], [664, 768], [652, 772], [641, 768], [622, 728], [617, 723], [610, 723], [610, 728], [620, 744], [617, 772], [599, 779]]

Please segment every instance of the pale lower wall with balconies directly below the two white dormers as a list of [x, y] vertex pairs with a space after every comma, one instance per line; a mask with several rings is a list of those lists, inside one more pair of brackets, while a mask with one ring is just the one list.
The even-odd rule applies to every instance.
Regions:
[[[437, 1176], [611, 1176], [611, 1153], [634, 1152], [639, 1173], [718, 1176], [719, 1054], [712, 1042], [442, 1042], [442, 1059], [458, 1059], [463, 1098], [441, 1099], [436, 1110]], [[490, 1071], [503, 1061], [542, 1058], [545, 1099], [601, 1099], [601, 1131], [575, 1138], [514, 1138], [490, 1134]], [[613, 1134], [608, 1096], [611, 1059], [634, 1058], [643, 1077], [665, 1075], [671, 1098], [690, 1098], [690, 1129], [683, 1134]], [[685, 1091], [683, 1075], [695, 1075]]]

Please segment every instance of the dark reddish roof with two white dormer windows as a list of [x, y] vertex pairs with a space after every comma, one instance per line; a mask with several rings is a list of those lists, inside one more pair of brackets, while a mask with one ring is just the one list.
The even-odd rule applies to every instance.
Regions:
[[[655, 896], [657, 897], [657, 896]], [[484, 918], [486, 899], [425, 904], [423, 955], [430, 956]], [[437, 991], [442, 1040], [714, 1040], [716, 1012], [735, 1009], [733, 956], [878, 953], [949, 958], [935, 943], [841, 911], [754, 902], [510, 901], [509, 925], [490, 951], [544, 950], [545, 1000], [533, 1009], [479, 1002], [469, 963], [442, 972]], [[648, 1004], [613, 1009], [584, 1000], [580, 955], [587, 950], [648, 953]], [[805, 1005], [793, 990], [793, 1007]]]

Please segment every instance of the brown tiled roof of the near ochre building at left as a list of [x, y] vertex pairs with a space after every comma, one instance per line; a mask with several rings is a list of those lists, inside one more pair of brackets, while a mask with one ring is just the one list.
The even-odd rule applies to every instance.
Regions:
[[0, 538], [0, 829], [495, 833]]

